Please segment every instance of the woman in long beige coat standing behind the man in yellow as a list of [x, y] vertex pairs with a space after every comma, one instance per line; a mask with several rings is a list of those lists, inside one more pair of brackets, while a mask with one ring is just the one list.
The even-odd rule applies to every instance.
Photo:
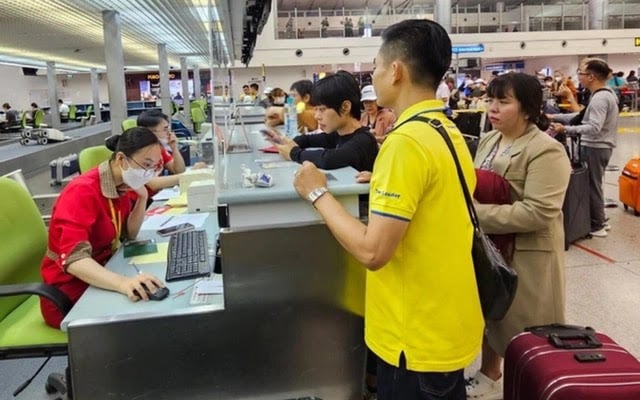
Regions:
[[549, 121], [535, 77], [499, 76], [488, 96], [495, 130], [480, 140], [475, 165], [509, 182], [511, 204], [476, 204], [476, 209], [486, 233], [515, 234], [511, 266], [518, 290], [505, 318], [487, 321], [482, 365], [467, 386], [467, 397], [475, 399], [502, 398], [501, 362], [513, 336], [527, 326], [564, 322], [562, 203], [571, 173], [563, 146], [542, 131]]

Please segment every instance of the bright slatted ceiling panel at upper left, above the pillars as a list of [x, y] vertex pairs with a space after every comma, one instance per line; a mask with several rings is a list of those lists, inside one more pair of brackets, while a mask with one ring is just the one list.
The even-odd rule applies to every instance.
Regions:
[[181, 54], [194, 63], [209, 54], [201, 10], [207, 6], [208, 0], [2, 0], [0, 57], [104, 66], [102, 10], [115, 10], [126, 65], [157, 65], [158, 43], [166, 44], [170, 63]]

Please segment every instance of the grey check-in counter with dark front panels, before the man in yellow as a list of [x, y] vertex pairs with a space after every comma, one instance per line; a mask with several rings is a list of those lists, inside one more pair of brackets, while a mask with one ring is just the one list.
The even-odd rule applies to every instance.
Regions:
[[[365, 270], [317, 216], [289, 212], [294, 203], [315, 212], [292, 187], [296, 165], [261, 169], [273, 173], [271, 188], [242, 187], [239, 166], [258, 169], [257, 156], [265, 157], [229, 154], [220, 182], [231, 225], [219, 234], [223, 295], [192, 305], [193, 282], [178, 281], [163, 301], [133, 303], [89, 288], [67, 315], [76, 399], [361, 398]], [[367, 191], [352, 183], [353, 170], [329, 173], [332, 192]], [[238, 207], [250, 204], [265, 211], [240, 219]], [[272, 214], [284, 217], [265, 222]], [[213, 245], [215, 214], [206, 230]], [[164, 278], [163, 263], [138, 267]], [[135, 273], [120, 254], [107, 268]]]

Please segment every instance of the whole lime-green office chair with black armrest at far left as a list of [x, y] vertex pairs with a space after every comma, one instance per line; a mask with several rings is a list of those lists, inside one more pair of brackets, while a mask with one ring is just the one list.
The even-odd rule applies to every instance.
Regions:
[[[68, 340], [66, 333], [45, 324], [39, 297], [51, 300], [63, 314], [72, 304], [64, 293], [40, 278], [47, 229], [29, 193], [15, 180], [2, 177], [0, 204], [0, 360], [46, 357], [46, 363], [52, 356], [67, 355]], [[51, 374], [45, 389], [50, 394], [64, 394], [67, 382], [62, 374]]]

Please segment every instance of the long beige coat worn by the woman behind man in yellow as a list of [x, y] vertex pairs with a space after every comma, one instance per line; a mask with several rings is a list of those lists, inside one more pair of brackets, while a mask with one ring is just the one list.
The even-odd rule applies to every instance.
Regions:
[[[502, 134], [491, 131], [478, 144], [479, 168]], [[563, 146], [530, 124], [492, 169], [511, 186], [512, 204], [476, 204], [486, 233], [515, 233], [512, 267], [518, 273], [515, 300], [502, 321], [487, 321], [489, 345], [498, 354], [525, 327], [564, 322], [564, 226], [562, 203], [571, 166]]]

